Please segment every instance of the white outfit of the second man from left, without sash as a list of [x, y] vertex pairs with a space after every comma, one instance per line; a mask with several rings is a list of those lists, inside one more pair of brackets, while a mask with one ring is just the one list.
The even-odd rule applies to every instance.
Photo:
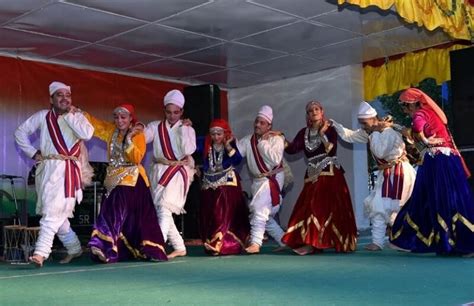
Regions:
[[[154, 158], [165, 159], [158, 134], [159, 124], [160, 121], [149, 123], [145, 129], [145, 138], [147, 143], [153, 142]], [[183, 238], [174, 224], [172, 214], [185, 212], [184, 204], [186, 203], [186, 196], [195, 172], [194, 161], [191, 154], [196, 151], [196, 132], [192, 127], [182, 125], [181, 121], [175, 123], [173, 127], [170, 126], [168, 121], [165, 121], [165, 124], [176, 158], [181, 160], [185, 156], [188, 156], [188, 160], [191, 162], [189, 166], [184, 166], [188, 177], [187, 183], [184, 183], [181, 173], [177, 172], [166, 187], [159, 185], [158, 182], [169, 166], [153, 163], [149, 173], [150, 188], [164, 240], [169, 241], [175, 250], [182, 251], [185, 250], [186, 247]]]

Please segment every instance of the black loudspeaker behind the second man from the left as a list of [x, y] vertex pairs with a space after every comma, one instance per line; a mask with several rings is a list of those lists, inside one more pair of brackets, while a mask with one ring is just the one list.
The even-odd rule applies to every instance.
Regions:
[[205, 136], [212, 119], [221, 116], [220, 89], [213, 84], [187, 86], [184, 117], [191, 119], [197, 136]]

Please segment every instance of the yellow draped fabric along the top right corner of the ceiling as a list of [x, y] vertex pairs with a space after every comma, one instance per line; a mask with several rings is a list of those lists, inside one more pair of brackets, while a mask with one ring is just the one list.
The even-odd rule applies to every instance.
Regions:
[[438, 27], [457, 39], [474, 41], [474, 6], [468, 0], [338, 0], [366, 8], [377, 6], [388, 10], [393, 5], [409, 23], [432, 31]]

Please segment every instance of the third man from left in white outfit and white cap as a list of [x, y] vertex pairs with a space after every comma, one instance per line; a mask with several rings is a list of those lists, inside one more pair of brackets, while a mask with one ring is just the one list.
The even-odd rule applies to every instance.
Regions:
[[242, 138], [237, 147], [247, 158], [252, 176], [252, 201], [250, 210], [250, 242], [247, 253], [259, 253], [265, 230], [283, 246], [283, 230], [273, 218], [280, 209], [281, 189], [285, 174], [283, 171], [283, 151], [285, 141], [282, 136], [271, 133], [273, 110], [264, 105], [254, 122], [254, 133]]

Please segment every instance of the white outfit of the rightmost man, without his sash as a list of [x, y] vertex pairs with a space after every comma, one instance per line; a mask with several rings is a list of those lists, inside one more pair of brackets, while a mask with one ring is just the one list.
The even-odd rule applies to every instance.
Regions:
[[[333, 121], [333, 126], [338, 135], [346, 142], [370, 144], [372, 154], [387, 162], [399, 159], [405, 154], [405, 143], [400, 133], [392, 128], [386, 128], [382, 132], [373, 132], [370, 135], [362, 129], [353, 131], [344, 128], [341, 124]], [[373, 242], [383, 247], [386, 224], [395, 220], [400, 208], [408, 201], [415, 184], [416, 172], [408, 161], [401, 163], [403, 167], [403, 189], [400, 200], [382, 197], [382, 186], [384, 182], [383, 171], [377, 172], [377, 181], [374, 189], [364, 200], [365, 213], [372, 222]], [[393, 182], [393, 174], [390, 176]]]

